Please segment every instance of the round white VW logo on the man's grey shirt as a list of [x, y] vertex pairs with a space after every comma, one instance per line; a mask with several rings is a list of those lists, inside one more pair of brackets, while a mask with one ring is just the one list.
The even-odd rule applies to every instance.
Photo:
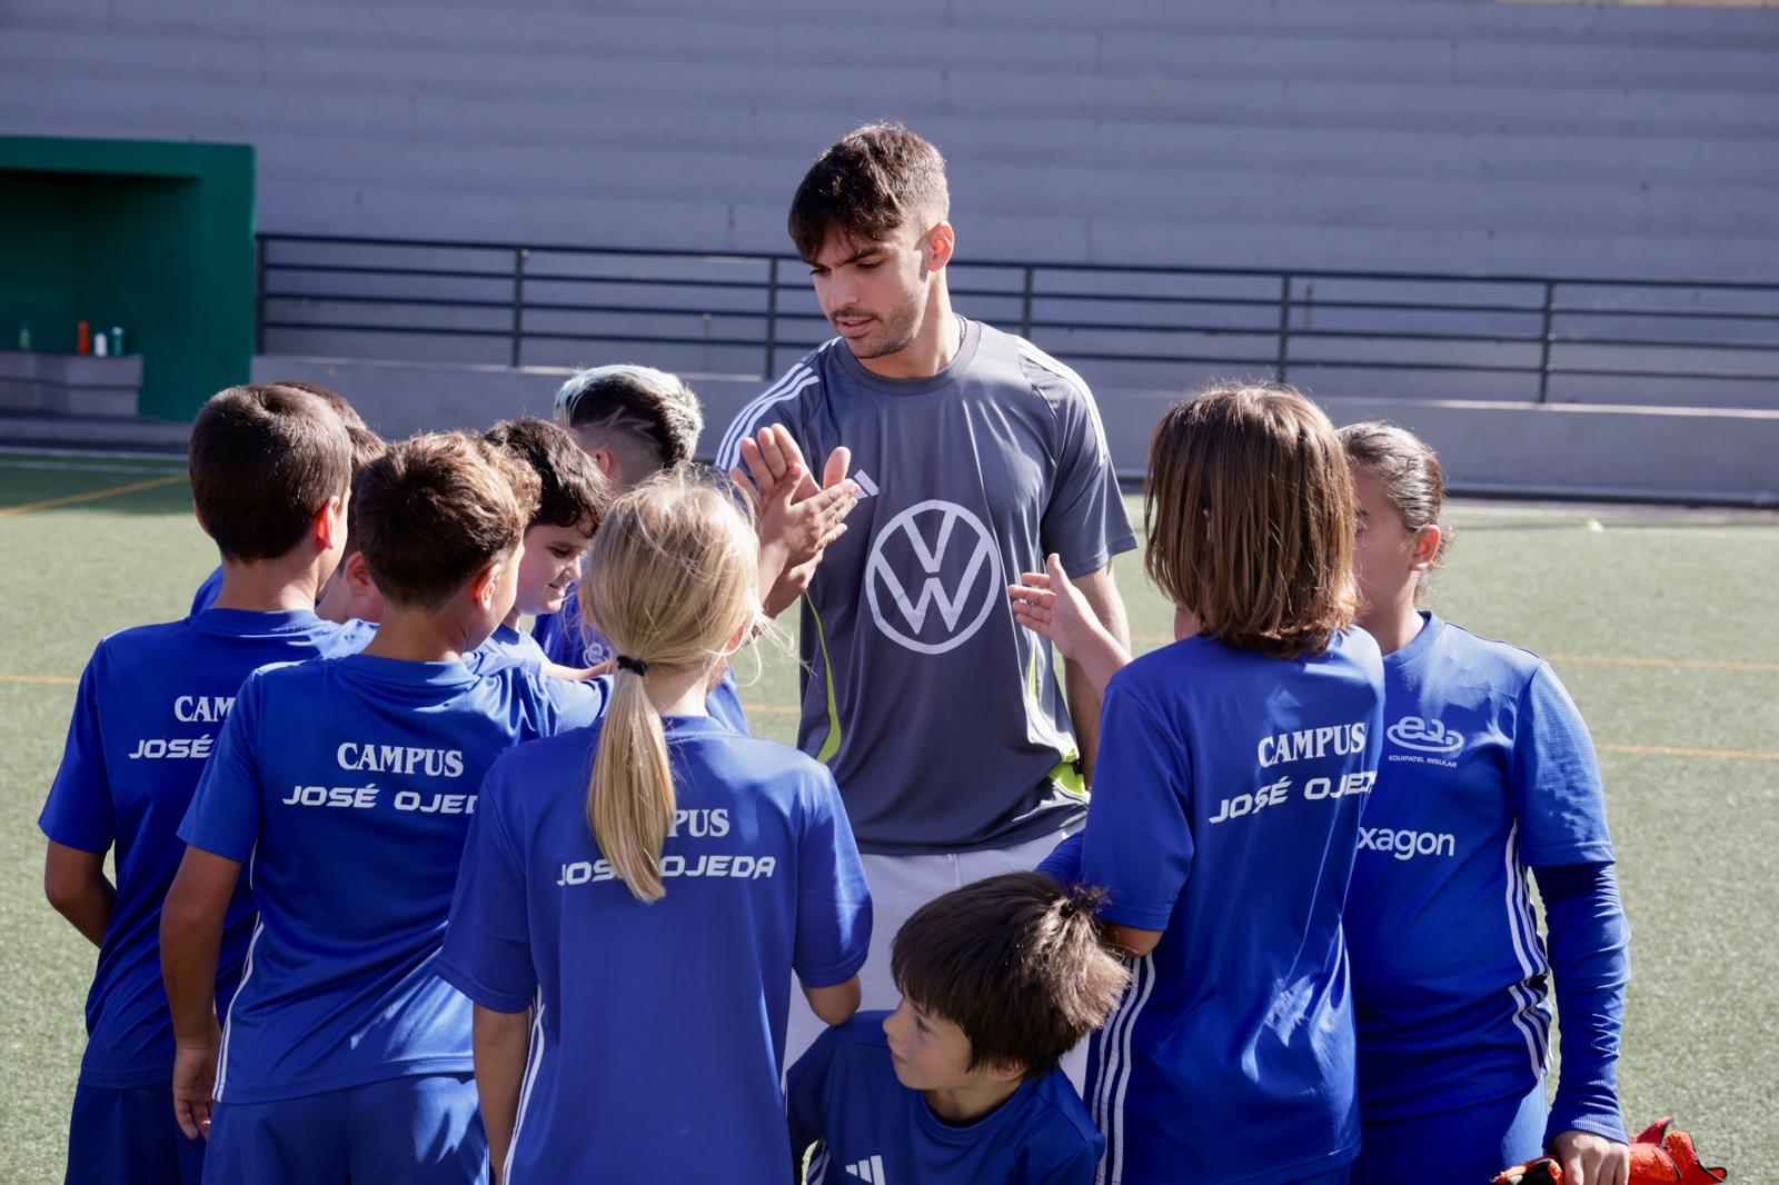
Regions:
[[[954, 543], [959, 523], [968, 530]], [[946, 557], [952, 557], [950, 582], [945, 578]], [[920, 571], [914, 573], [914, 568]], [[909, 598], [898, 569], [909, 576], [907, 584], [918, 582], [918, 598]], [[994, 537], [980, 518], [955, 502], [918, 502], [891, 518], [872, 541], [865, 594], [872, 605], [872, 619], [890, 639], [922, 655], [943, 655], [980, 630], [989, 610], [1002, 600]], [[891, 612], [884, 610], [886, 600]], [[939, 617], [929, 628], [932, 609], [939, 610]], [[970, 621], [959, 625], [970, 610]]]

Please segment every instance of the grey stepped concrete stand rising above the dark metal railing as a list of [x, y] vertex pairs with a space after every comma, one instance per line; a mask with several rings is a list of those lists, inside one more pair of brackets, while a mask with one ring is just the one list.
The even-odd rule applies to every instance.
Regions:
[[783, 249], [897, 116], [962, 258], [1770, 279], [1779, 11], [5, 0], [0, 132], [253, 142], [267, 231]]

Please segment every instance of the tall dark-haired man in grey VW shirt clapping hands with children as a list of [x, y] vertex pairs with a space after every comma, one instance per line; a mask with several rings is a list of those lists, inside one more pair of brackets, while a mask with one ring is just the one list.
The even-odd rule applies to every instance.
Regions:
[[1092, 395], [1030, 342], [952, 311], [946, 217], [945, 162], [900, 125], [817, 158], [790, 233], [840, 336], [744, 407], [717, 450], [719, 468], [765, 486], [850, 450], [847, 532], [786, 566], [767, 603], [804, 594], [799, 747], [834, 770], [865, 852], [865, 1007], [895, 1007], [888, 945], [909, 913], [1035, 867], [1085, 813], [1099, 701], [1075, 671], [1064, 701], [1009, 582], [1055, 553], [1130, 642], [1110, 562], [1135, 536]]

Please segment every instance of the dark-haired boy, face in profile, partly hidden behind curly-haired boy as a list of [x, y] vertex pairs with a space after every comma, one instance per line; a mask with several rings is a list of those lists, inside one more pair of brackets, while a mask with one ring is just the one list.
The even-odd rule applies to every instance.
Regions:
[[610, 489], [575, 438], [546, 420], [532, 416], [502, 420], [487, 429], [482, 439], [505, 448], [530, 468], [541, 482], [541, 493], [532, 521], [525, 527], [525, 559], [519, 560], [512, 612], [477, 648], [479, 662], [471, 665], [487, 671], [489, 664], [519, 662], [532, 667], [555, 664], [532, 633], [519, 633], [519, 616], [557, 614], [575, 594], [580, 560], [592, 543], [592, 532], [600, 528], [600, 520], [605, 518], [605, 507], [612, 500]]

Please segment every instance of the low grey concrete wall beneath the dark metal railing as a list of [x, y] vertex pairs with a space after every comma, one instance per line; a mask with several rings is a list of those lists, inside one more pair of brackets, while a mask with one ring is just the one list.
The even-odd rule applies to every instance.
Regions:
[[[482, 429], [550, 415], [559, 368], [466, 368], [301, 356], [254, 359], [254, 381], [310, 379], [352, 400], [379, 432]], [[687, 375], [704, 402], [703, 454], [713, 450], [753, 379]], [[1147, 434], [1178, 395], [1096, 391], [1119, 473], [1140, 477]], [[1423, 436], [1459, 493], [1646, 498], [1779, 507], [1779, 411], [1537, 406], [1480, 400], [1324, 400], [1336, 423], [1386, 418]]]

